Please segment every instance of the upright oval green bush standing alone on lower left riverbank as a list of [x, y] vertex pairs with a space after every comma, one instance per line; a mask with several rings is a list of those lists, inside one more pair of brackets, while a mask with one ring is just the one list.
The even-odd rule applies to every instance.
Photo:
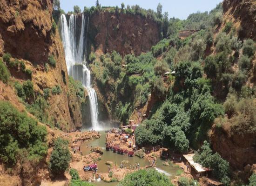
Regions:
[[54, 150], [50, 156], [49, 169], [53, 175], [63, 174], [71, 159], [71, 154], [68, 150], [68, 141], [58, 138], [54, 142]]

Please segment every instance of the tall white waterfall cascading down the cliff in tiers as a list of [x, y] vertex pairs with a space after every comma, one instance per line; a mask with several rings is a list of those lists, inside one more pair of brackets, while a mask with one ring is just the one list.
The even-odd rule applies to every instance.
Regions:
[[[76, 22], [77, 16], [70, 15], [69, 24], [67, 23], [66, 16], [61, 15], [61, 37], [65, 50], [65, 58], [67, 63], [68, 74], [71, 75], [74, 80], [80, 80], [82, 85], [87, 89], [89, 101], [91, 122], [94, 130], [100, 130], [101, 126], [98, 122], [98, 101], [95, 90], [91, 87], [91, 74], [90, 70], [83, 61], [84, 49], [86, 49], [85, 38], [87, 36], [87, 29], [85, 29], [86, 19], [82, 14], [81, 33], [78, 43], [76, 42]], [[88, 28], [88, 24], [87, 24]], [[85, 33], [86, 31], [86, 33]], [[85, 36], [86, 34], [86, 36]], [[85, 41], [85, 42], [84, 42]], [[85, 50], [86, 51], [86, 50]], [[86, 53], [86, 52], [85, 52]]]

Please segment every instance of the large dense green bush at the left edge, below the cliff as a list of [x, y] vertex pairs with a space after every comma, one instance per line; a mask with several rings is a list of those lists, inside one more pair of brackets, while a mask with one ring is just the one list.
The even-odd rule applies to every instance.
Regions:
[[20, 113], [9, 102], [0, 101], [0, 160], [14, 165], [22, 150], [25, 159], [40, 162], [47, 153], [47, 131], [37, 121]]

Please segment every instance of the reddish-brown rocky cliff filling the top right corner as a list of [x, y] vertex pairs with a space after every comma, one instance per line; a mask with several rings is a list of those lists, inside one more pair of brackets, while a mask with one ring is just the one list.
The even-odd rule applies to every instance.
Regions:
[[240, 23], [239, 37], [256, 40], [256, 1], [224, 0], [224, 17]]

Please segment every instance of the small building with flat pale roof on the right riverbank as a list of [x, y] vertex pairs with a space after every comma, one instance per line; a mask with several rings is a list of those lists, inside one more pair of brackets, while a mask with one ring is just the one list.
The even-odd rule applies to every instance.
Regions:
[[208, 177], [208, 174], [211, 173], [211, 169], [203, 167], [199, 163], [195, 163], [193, 160], [194, 153], [192, 154], [183, 154], [186, 165], [189, 167], [189, 171], [191, 175], [196, 176], [197, 178], [201, 178], [202, 176]]

